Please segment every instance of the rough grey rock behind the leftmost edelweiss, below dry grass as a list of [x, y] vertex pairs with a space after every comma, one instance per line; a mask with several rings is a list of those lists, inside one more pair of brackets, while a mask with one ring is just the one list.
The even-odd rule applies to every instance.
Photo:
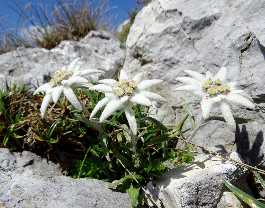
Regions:
[[16, 81], [32, 87], [38, 80], [42, 85], [49, 82], [57, 70], [78, 57], [82, 58], [78, 62], [81, 69], [100, 69], [106, 73], [91, 75], [98, 81], [117, 74], [123, 65], [125, 52], [118, 39], [105, 31], [90, 31], [80, 42], [62, 41], [51, 50], [20, 47], [0, 55], [0, 82], [6, 76], [8, 83]]

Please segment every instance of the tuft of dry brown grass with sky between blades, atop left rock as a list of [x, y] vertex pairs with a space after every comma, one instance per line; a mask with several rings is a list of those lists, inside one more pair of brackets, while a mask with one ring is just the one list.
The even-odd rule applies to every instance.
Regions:
[[[90, 30], [108, 30], [111, 21], [108, 1], [56, 0], [57, 6], [27, 5], [12, 0], [8, 5], [19, 14], [16, 28], [12, 28], [6, 17], [0, 16], [0, 54], [17, 47], [42, 47], [51, 49], [63, 40], [85, 37]], [[59, 6], [58, 6], [59, 5]], [[18, 25], [21, 25], [19, 27]]]

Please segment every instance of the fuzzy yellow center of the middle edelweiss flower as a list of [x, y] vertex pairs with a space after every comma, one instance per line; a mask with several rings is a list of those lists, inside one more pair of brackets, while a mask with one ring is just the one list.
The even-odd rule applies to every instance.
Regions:
[[134, 89], [137, 84], [134, 80], [128, 81], [127, 79], [122, 79], [121, 82], [113, 82], [112, 90], [116, 92], [119, 97], [133, 94]]

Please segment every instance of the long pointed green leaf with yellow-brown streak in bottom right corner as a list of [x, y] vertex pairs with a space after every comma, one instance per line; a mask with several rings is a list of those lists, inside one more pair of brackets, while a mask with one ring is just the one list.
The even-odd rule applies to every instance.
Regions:
[[[222, 177], [222, 176], [221, 176]], [[255, 198], [249, 196], [245, 192], [241, 191], [240, 189], [236, 188], [234, 185], [229, 183], [226, 179], [222, 177], [224, 184], [241, 200], [243, 200], [245, 203], [247, 203], [251, 207], [260, 207], [260, 208], [265, 208], [265, 204], [259, 202]]]

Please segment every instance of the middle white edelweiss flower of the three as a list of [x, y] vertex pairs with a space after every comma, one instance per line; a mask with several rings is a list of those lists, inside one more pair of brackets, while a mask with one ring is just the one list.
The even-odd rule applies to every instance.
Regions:
[[101, 123], [112, 113], [121, 108], [129, 122], [130, 129], [134, 134], [137, 133], [136, 119], [133, 112], [133, 105], [140, 104], [151, 106], [151, 101], [167, 102], [165, 98], [153, 92], [145, 91], [147, 88], [163, 82], [161, 79], [149, 79], [141, 82], [144, 73], [136, 74], [131, 81], [124, 70], [121, 70], [119, 82], [114, 79], [99, 80], [99, 85], [90, 87], [89, 90], [103, 92], [105, 98], [100, 100], [91, 113], [90, 119], [98, 110], [106, 106], [103, 110], [99, 122]]

